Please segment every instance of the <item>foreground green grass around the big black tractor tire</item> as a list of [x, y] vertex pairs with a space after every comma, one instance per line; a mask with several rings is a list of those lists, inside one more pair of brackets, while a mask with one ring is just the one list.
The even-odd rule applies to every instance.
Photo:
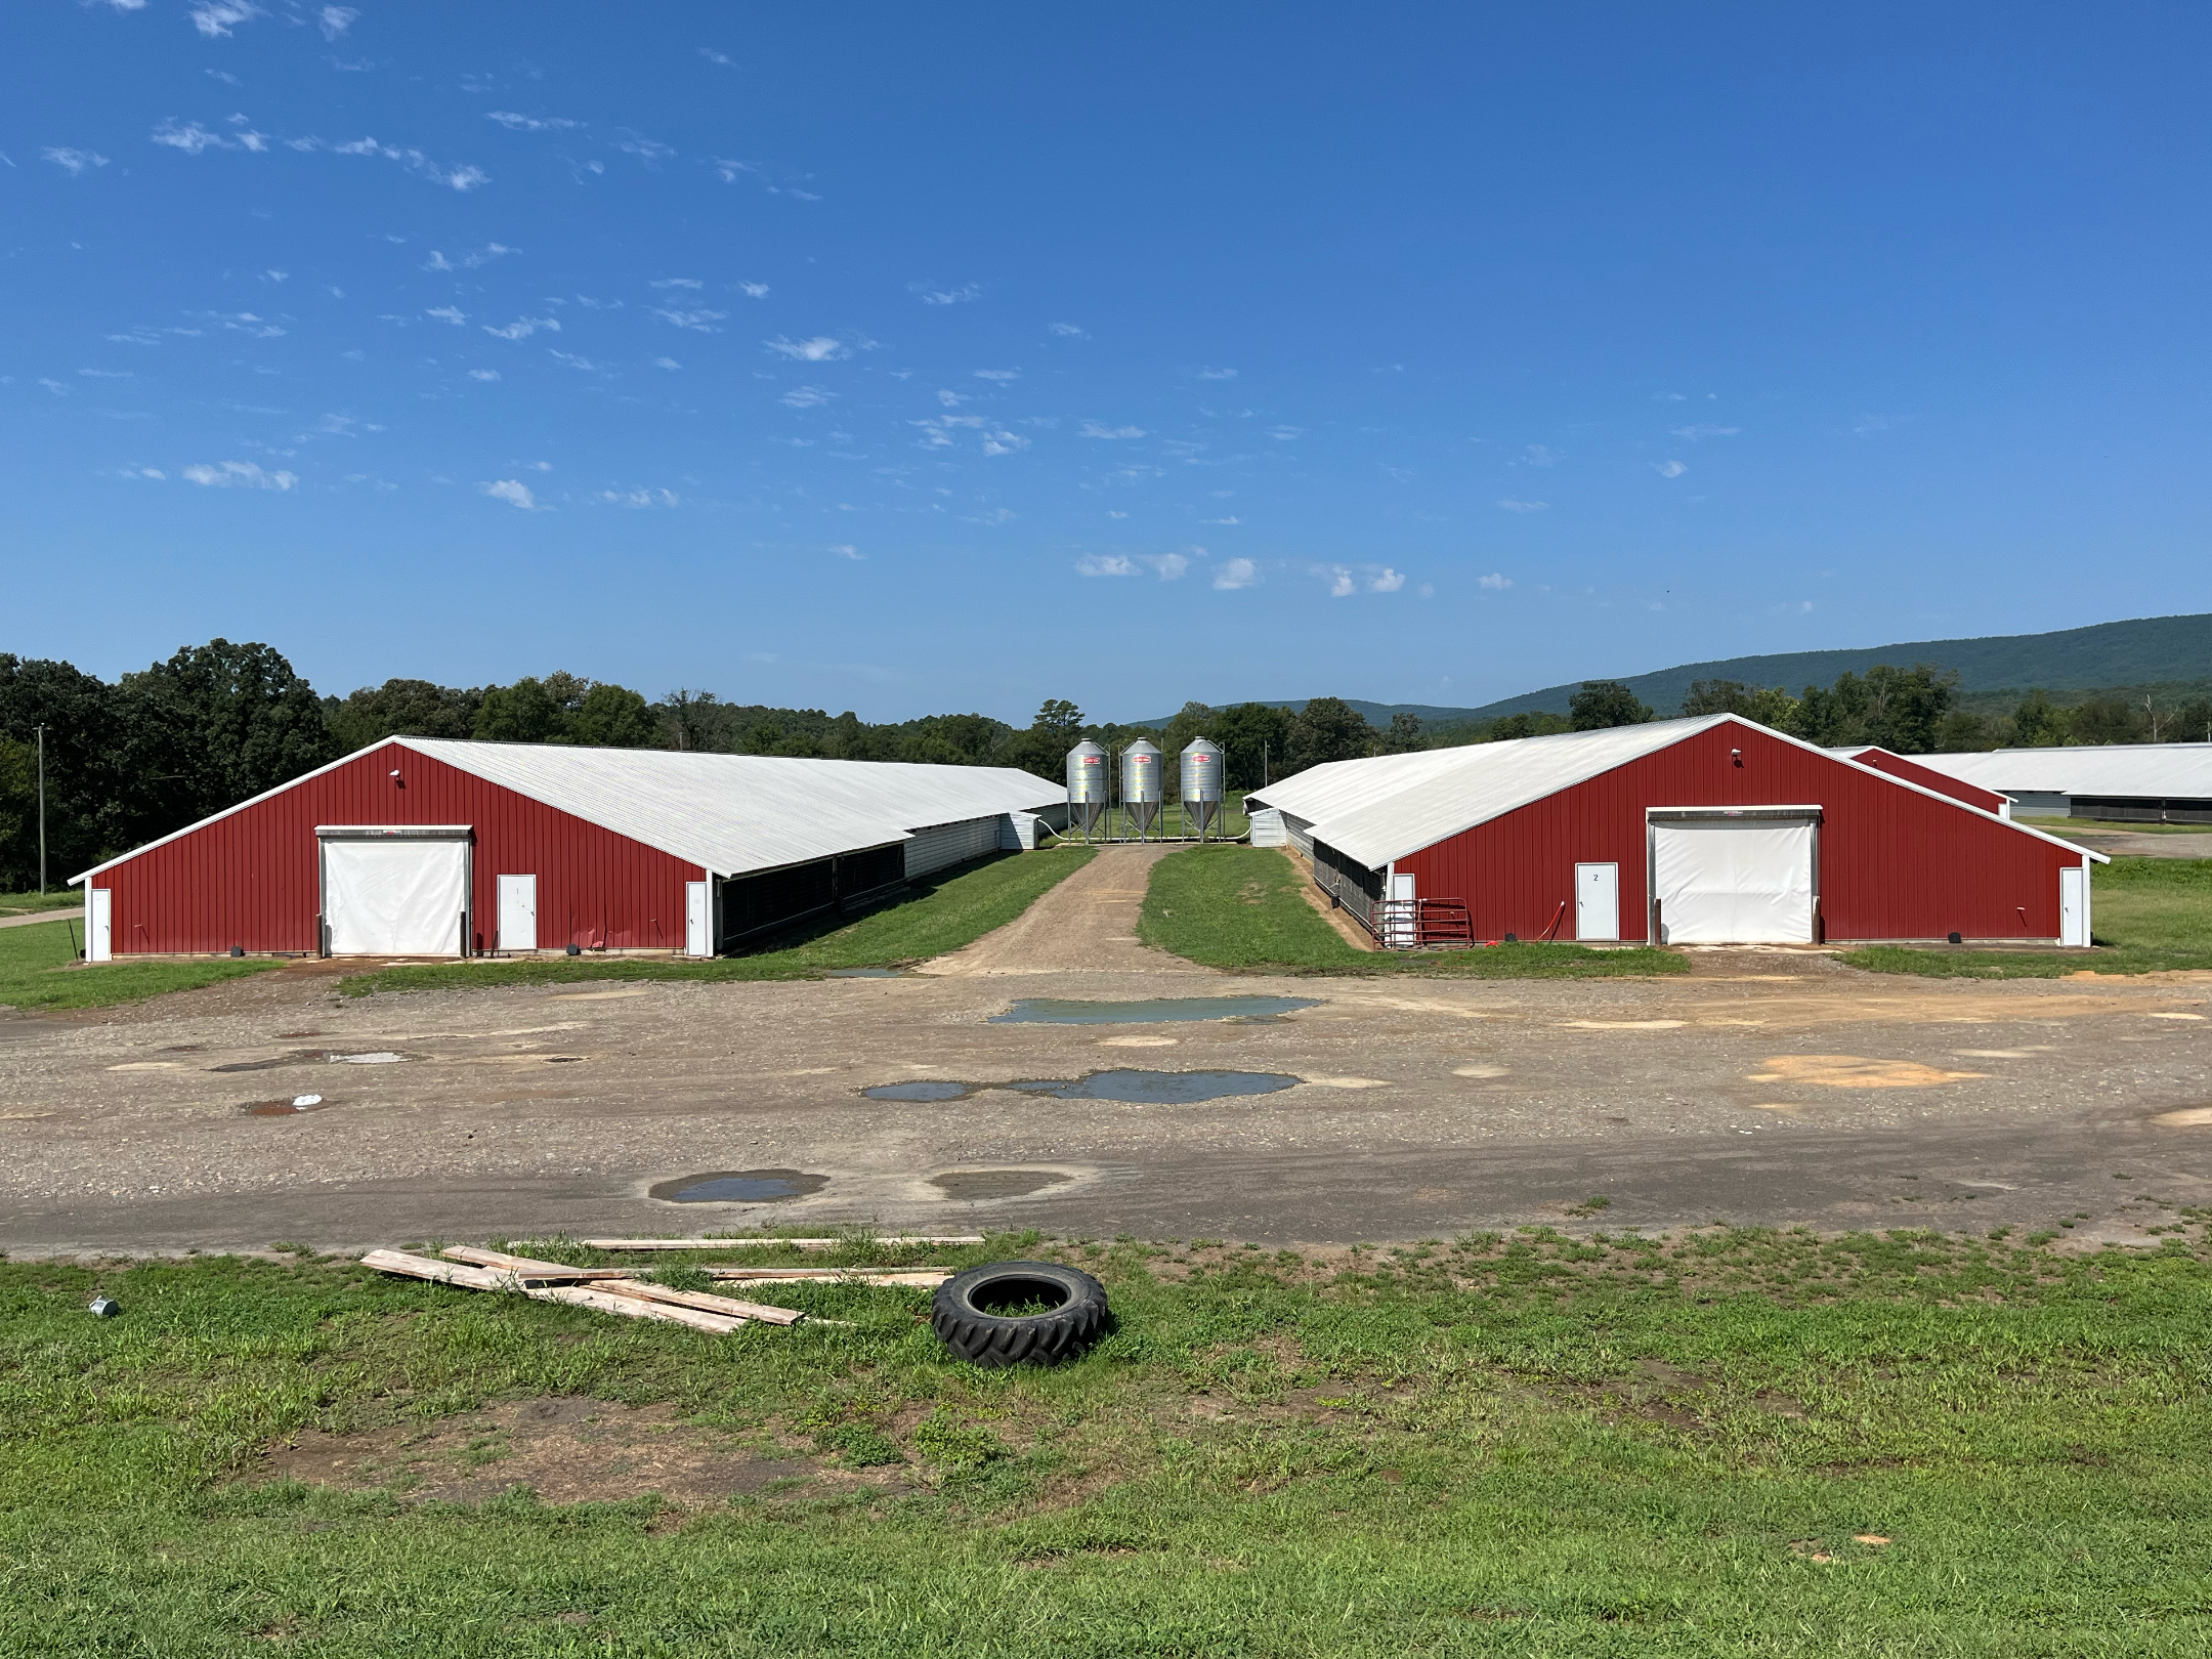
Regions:
[[[0, 1650], [2201, 1655], [2212, 1265], [2170, 1217], [2088, 1256], [1075, 1245], [1046, 1254], [1117, 1325], [1013, 1374], [951, 1363], [925, 1292], [703, 1336], [305, 1254], [9, 1263]], [[599, 1502], [502, 1491], [526, 1447], [471, 1413], [546, 1398], [670, 1402], [672, 1440], [783, 1478], [679, 1509], [608, 1453]], [[440, 1425], [403, 1480], [263, 1462]], [[482, 1495], [427, 1498], [440, 1471]]]

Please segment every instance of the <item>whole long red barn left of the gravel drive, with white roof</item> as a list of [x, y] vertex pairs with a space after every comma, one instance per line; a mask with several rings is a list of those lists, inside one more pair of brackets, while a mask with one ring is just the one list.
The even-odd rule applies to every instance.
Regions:
[[394, 737], [75, 880], [91, 960], [710, 956], [1018, 845], [1060, 794], [1000, 768]]

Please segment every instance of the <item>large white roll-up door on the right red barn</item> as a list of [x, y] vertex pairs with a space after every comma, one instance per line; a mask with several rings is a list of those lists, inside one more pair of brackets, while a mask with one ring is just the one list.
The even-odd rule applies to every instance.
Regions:
[[1812, 945], [1812, 821], [1652, 823], [1663, 945]]

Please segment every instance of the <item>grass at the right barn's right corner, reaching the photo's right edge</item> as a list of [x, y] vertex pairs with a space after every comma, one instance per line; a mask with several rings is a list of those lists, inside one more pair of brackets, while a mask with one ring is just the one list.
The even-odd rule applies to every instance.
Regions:
[[1876, 945], [1843, 960], [1874, 973], [1973, 980], [2055, 980], [2062, 973], [2212, 969], [2212, 858], [2115, 858], [2090, 874], [2090, 929], [2099, 949], [1938, 951]]

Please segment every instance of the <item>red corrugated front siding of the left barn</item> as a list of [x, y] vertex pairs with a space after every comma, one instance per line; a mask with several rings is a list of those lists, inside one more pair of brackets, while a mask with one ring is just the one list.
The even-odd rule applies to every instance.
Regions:
[[[389, 772], [398, 768], [407, 787]], [[476, 931], [498, 920], [498, 876], [538, 876], [538, 945], [681, 949], [697, 865], [641, 847], [398, 743], [201, 825], [91, 878], [115, 898], [115, 956], [312, 951], [316, 825], [467, 823]]]

